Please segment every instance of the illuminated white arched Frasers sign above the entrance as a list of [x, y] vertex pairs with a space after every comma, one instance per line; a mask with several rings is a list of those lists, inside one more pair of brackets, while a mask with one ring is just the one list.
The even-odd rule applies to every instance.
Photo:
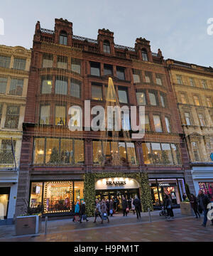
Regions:
[[95, 183], [96, 190], [139, 188], [138, 181], [133, 178], [103, 178]]

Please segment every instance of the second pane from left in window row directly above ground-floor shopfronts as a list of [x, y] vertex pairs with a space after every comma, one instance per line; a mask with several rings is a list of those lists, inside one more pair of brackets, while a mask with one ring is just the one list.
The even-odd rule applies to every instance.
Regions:
[[60, 163], [59, 139], [47, 139], [45, 156], [46, 164]]

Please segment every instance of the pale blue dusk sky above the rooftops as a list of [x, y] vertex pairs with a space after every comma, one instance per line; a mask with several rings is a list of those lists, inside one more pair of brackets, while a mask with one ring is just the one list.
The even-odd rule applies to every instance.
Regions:
[[55, 18], [66, 18], [74, 35], [97, 39], [99, 28], [106, 28], [116, 44], [134, 47], [142, 37], [165, 59], [213, 67], [213, 34], [207, 33], [212, 0], [6, 0], [0, 6], [2, 45], [30, 49], [37, 21], [54, 30]]

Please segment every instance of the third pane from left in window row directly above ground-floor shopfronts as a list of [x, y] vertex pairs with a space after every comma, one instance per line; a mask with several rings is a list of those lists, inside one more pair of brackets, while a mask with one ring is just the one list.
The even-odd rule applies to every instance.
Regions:
[[60, 162], [72, 164], [73, 149], [72, 139], [61, 139], [60, 141]]

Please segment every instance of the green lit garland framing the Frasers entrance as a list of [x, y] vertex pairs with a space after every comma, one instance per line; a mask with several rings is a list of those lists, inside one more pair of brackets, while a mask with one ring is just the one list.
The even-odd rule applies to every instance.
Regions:
[[153, 201], [151, 197], [151, 188], [148, 183], [148, 174], [133, 173], [88, 173], [84, 174], [84, 200], [86, 203], [87, 215], [92, 217], [94, 215], [94, 201], [95, 201], [95, 181], [101, 178], [134, 178], [138, 181], [141, 191], [141, 208], [143, 212], [147, 212], [148, 208], [153, 210]]

